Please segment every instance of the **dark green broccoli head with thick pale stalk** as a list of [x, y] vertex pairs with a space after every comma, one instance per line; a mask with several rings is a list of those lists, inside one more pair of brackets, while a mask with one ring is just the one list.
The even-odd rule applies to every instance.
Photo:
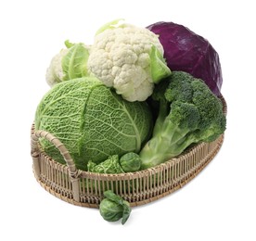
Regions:
[[184, 71], [156, 85], [152, 99], [159, 113], [151, 139], [139, 153], [141, 169], [172, 159], [192, 144], [211, 142], [224, 133], [221, 100], [205, 82]]

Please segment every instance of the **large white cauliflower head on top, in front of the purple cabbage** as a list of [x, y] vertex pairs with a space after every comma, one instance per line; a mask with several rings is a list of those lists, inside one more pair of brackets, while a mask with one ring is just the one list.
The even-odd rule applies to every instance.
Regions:
[[[119, 21], [119, 20], [118, 20]], [[158, 35], [130, 24], [103, 26], [88, 57], [91, 74], [128, 101], [144, 101], [154, 83], [170, 75]]]

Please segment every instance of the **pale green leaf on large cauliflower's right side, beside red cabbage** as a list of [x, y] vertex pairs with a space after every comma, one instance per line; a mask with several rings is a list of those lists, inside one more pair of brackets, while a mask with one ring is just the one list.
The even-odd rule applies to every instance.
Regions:
[[162, 57], [159, 49], [155, 45], [152, 45], [149, 57], [153, 82], [158, 83], [160, 80], [171, 75], [171, 70], [166, 65], [164, 57]]

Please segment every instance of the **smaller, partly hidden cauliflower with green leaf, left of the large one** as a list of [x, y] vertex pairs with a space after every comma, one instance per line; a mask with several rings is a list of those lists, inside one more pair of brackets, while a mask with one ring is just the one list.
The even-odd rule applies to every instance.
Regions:
[[89, 75], [87, 70], [89, 46], [82, 43], [71, 44], [69, 41], [66, 41], [65, 45], [67, 48], [61, 49], [58, 55], [52, 58], [46, 71], [46, 82], [50, 86]]

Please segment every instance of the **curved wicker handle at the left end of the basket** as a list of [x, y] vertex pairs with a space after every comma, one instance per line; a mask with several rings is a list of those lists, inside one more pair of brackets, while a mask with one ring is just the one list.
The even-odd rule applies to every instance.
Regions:
[[65, 159], [68, 169], [70, 172], [70, 181], [72, 184], [72, 191], [73, 191], [73, 199], [79, 202], [79, 170], [76, 169], [73, 159], [70, 156], [69, 150], [61, 143], [56, 136], [52, 133], [48, 133], [45, 131], [35, 131], [32, 133], [32, 159], [33, 159], [33, 167], [35, 176], [37, 179], [40, 178], [40, 163], [39, 163], [39, 138], [45, 138], [49, 142], [51, 142], [54, 146], [56, 146]]

